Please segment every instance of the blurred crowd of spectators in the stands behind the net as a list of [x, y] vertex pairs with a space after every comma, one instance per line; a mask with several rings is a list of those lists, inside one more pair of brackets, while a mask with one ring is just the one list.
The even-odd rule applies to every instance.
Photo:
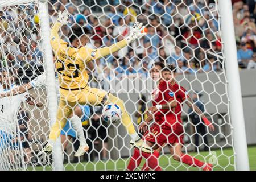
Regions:
[[[96, 2], [96, 3], [95, 3]], [[210, 0], [112, 0], [49, 1], [51, 24], [57, 11], [68, 10], [69, 23], [61, 28], [68, 42], [71, 27], [79, 24], [92, 31], [88, 47], [110, 46], [126, 38], [135, 20], [146, 25], [147, 35], [139, 42], [96, 60], [94, 76], [110, 73], [123, 77], [146, 74], [155, 61], [175, 64], [178, 73], [200, 73], [222, 69], [222, 46], [218, 12]], [[232, 1], [240, 68], [255, 68], [255, 1]], [[206, 6], [207, 5], [207, 6]], [[34, 5], [0, 11], [2, 66], [38, 69], [42, 67], [39, 17]], [[18, 11], [17, 15], [14, 10]], [[6, 31], [7, 30], [7, 31]], [[6, 61], [5, 61], [6, 60]], [[22, 73], [20, 73], [22, 74]], [[23, 73], [24, 74], [24, 73]]]

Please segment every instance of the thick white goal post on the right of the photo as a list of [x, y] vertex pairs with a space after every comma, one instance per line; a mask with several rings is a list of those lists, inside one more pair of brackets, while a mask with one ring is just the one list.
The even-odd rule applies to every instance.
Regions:
[[218, 9], [220, 9], [221, 34], [224, 42], [230, 117], [233, 125], [234, 150], [236, 152], [236, 169], [245, 171], [250, 170], [250, 168], [231, 0], [218, 0]]

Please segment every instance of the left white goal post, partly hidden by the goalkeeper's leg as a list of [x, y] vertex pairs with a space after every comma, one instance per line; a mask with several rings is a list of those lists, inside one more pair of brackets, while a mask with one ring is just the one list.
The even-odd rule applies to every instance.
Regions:
[[[53, 64], [52, 47], [50, 44], [51, 31], [49, 27], [48, 5], [46, 0], [39, 0], [39, 17], [44, 50], [44, 68], [46, 72], [49, 118], [50, 126], [52, 126], [56, 121], [57, 97], [55, 89], [55, 68]], [[53, 145], [52, 166], [55, 171], [64, 170], [60, 137]]]

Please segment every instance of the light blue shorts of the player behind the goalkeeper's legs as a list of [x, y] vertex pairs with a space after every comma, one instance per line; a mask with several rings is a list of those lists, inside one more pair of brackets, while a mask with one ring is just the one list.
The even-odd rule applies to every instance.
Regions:
[[[79, 107], [82, 110], [81, 121], [84, 122], [84, 121], [88, 120], [89, 117], [90, 117], [90, 107], [88, 105], [83, 105], [83, 106], [79, 105]], [[64, 126], [64, 128], [61, 130], [60, 134], [61, 135], [68, 135], [68, 136], [71, 136], [71, 137], [76, 137], [76, 131], [73, 129], [69, 119], [68, 119], [66, 125]]]

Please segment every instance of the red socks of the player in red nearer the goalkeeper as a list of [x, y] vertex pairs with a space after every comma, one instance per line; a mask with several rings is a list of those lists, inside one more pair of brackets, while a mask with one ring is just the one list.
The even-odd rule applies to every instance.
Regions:
[[158, 151], [154, 151], [153, 154], [142, 152], [142, 155], [146, 158], [142, 171], [148, 171], [150, 168], [154, 171], [162, 171], [158, 164], [158, 157], [160, 155]]

